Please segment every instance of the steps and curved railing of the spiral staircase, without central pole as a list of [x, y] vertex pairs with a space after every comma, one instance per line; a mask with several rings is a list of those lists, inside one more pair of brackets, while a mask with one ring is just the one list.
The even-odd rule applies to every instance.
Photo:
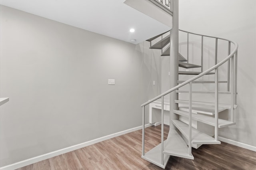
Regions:
[[[185, 32], [180, 30], [181, 32]], [[190, 34], [194, 34], [191, 32], [186, 32], [188, 36]], [[150, 49], [161, 49], [162, 55], [161, 56], [170, 56], [170, 35], [162, 38], [158, 42], [152, 45], [152, 41], [156, 40], [159, 37], [162, 37], [164, 34], [168, 34], [165, 32], [154, 38], [150, 38], [147, 40], [150, 42]], [[202, 47], [203, 47], [203, 38], [214, 38], [216, 40], [216, 44], [218, 40], [224, 40], [228, 42], [228, 56], [219, 63], [215, 63], [215, 65], [206, 71], [178, 71], [179, 75], [196, 75], [188, 80], [178, 80], [178, 85], [173, 87], [172, 89], [158, 95], [154, 99], [142, 104], [143, 108], [143, 129], [142, 129], [142, 158], [156, 164], [162, 168], [166, 167], [166, 164], [170, 158], [170, 156], [178, 156], [182, 158], [194, 159], [192, 155], [192, 147], [198, 148], [198, 145], [202, 144], [220, 144], [218, 140], [218, 128], [228, 127], [231, 125], [235, 125], [234, 123], [234, 111], [237, 107], [236, 105], [236, 57], [237, 57], [237, 49], [238, 45], [236, 42], [232, 42], [230, 40], [226, 40], [223, 38], [217, 38], [212, 36], [206, 36], [201, 34], [194, 34], [197, 36], [202, 37]], [[231, 43], [234, 44], [234, 49], [230, 52]], [[188, 43], [187, 43], [188, 44]], [[165, 50], [163, 50], [165, 48]], [[215, 46], [216, 57], [217, 57], [217, 48], [218, 45]], [[203, 58], [203, 55], [202, 55]], [[217, 59], [215, 59], [217, 61]], [[193, 63], [188, 63], [188, 59], [186, 59], [183, 55], [179, 53], [178, 56], [178, 66], [183, 67], [186, 69], [190, 68], [200, 68], [202, 65], [195, 65]], [[219, 81], [218, 77], [221, 77], [218, 73], [218, 67], [223, 65], [224, 63], [228, 63], [228, 80], [227, 81]], [[205, 75], [213, 75], [214, 79], [211, 81], [198, 81], [200, 77]], [[214, 83], [215, 90], [214, 91], [192, 91], [192, 83], [200, 83], [202, 85], [208, 83]], [[218, 86], [219, 83], [227, 83], [227, 91], [219, 91]], [[181, 87], [188, 85], [188, 90], [181, 90]], [[188, 99], [187, 100], [174, 100], [175, 103], [178, 104], [177, 109], [171, 109], [173, 114], [182, 117], [182, 119], [171, 120], [170, 124], [174, 125], [175, 128], [170, 128], [168, 138], [164, 141], [163, 140], [163, 124], [164, 124], [164, 109], [162, 109], [162, 142], [152, 148], [147, 153], [144, 153], [144, 115], [145, 115], [145, 106], [161, 99], [162, 107], [164, 108], [164, 96], [168, 95], [169, 93], [187, 93]], [[192, 93], [197, 93], [200, 95], [208, 95], [214, 94], [215, 95], [215, 102], [208, 102], [208, 101], [193, 101]], [[229, 95], [231, 98], [231, 102], [229, 104], [222, 104], [219, 103], [219, 94], [222, 95]], [[230, 110], [230, 120], [219, 119], [218, 114], [224, 110]], [[185, 121], [184, 121], [185, 120]], [[198, 130], [197, 128], [192, 127], [192, 120], [200, 123], [204, 123], [214, 127], [214, 134], [207, 134]], [[214, 137], [212, 137], [214, 136]]]

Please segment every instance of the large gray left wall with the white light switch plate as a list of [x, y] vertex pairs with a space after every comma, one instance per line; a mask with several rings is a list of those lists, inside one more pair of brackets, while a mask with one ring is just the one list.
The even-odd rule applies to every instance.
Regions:
[[154, 72], [144, 43], [0, 12], [0, 166], [142, 124]]

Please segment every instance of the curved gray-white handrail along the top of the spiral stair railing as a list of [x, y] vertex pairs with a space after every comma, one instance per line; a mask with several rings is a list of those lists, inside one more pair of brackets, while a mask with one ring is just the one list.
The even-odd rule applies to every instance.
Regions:
[[237, 50], [238, 50], [238, 43], [233, 42], [233, 41], [230, 41], [230, 40], [227, 40], [227, 39], [224, 39], [224, 38], [218, 38], [218, 37], [214, 37], [214, 36], [207, 36], [207, 35], [202, 35], [202, 34], [196, 34], [196, 33], [187, 32], [187, 31], [183, 31], [183, 30], [180, 30], [180, 31], [186, 32], [186, 33], [189, 33], [189, 34], [198, 35], [198, 36], [205, 36], [205, 37], [216, 38], [216, 39], [220, 39], [220, 40], [226, 40], [226, 41], [228, 41], [228, 42], [233, 43], [233, 44], [235, 45], [235, 47], [234, 47], [234, 50], [230, 53], [230, 55], [228, 55], [228, 57], [226, 57], [224, 60], [220, 61], [218, 64], [216, 64], [216, 65], [214, 65], [213, 67], [207, 69], [206, 71], [200, 73], [199, 75], [197, 75], [197, 76], [195, 76], [195, 77], [192, 77], [191, 79], [188, 79], [187, 81], [184, 81], [184, 82], [181, 83], [180, 85], [177, 85], [177, 86], [173, 87], [172, 89], [169, 89], [168, 91], [166, 91], [166, 92], [164, 92], [164, 93], [162, 93], [162, 94], [160, 94], [160, 95], [154, 97], [153, 99], [147, 101], [146, 103], [143, 103], [143, 104], [141, 105], [141, 107], [146, 106], [146, 105], [148, 105], [148, 104], [150, 104], [150, 103], [156, 101], [157, 99], [160, 99], [161, 97], [163, 97], [163, 96], [165, 96], [165, 95], [168, 95], [168, 94], [171, 93], [172, 91], [177, 90], [178, 88], [180, 88], [180, 87], [182, 87], [182, 86], [184, 86], [184, 85], [186, 85], [186, 84], [188, 84], [188, 83], [190, 83], [190, 82], [192, 82], [192, 81], [194, 81], [194, 80], [196, 80], [196, 79], [202, 77], [203, 75], [206, 75], [207, 73], [210, 73], [210, 71], [212, 71], [212, 70], [214, 70], [214, 69], [220, 67], [222, 64], [226, 63], [226, 61], [228, 61], [231, 57], [233, 57], [233, 56], [235, 55], [235, 53], [237, 52]]

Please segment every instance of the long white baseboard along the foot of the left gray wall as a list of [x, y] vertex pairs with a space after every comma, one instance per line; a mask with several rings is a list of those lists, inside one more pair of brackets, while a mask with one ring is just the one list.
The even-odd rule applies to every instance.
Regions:
[[[150, 127], [152, 125], [153, 124], [149, 123], [149, 124], [145, 125], [145, 128]], [[120, 136], [120, 135], [123, 135], [123, 134], [126, 134], [126, 133], [134, 132], [134, 131], [140, 130], [140, 129], [142, 129], [142, 126], [135, 127], [135, 128], [130, 128], [128, 130], [124, 130], [124, 131], [121, 131], [121, 132], [117, 132], [117, 133], [114, 133], [114, 134], [103, 136], [101, 138], [90, 140], [88, 142], [84, 142], [84, 143], [81, 143], [81, 144], [76, 144], [74, 146], [70, 146], [70, 147], [67, 147], [67, 148], [56, 150], [54, 152], [50, 152], [50, 153], [47, 153], [47, 154], [36, 156], [34, 158], [22, 160], [20, 162], [14, 163], [14, 164], [10, 164], [10, 165], [7, 165], [7, 166], [2, 166], [2, 167], [0, 167], [0, 170], [15, 170], [15, 169], [21, 168], [23, 166], [28, 166], [30, 164], [34, 164], [36, 162], [40, 162], [42, 160], [46, 160], [46, 159], [52, 158], [54, 156], [58, 156], [58, 155], [61, 155], [61, 154], [67, 153], [67, 152], [71, 152], [73, 150], [77, 150], [77, 149], [80, 149], [80, 148], [83, 148], [83, 147], [86, 147], [86, 146], [89, 146], [89, 145], [92, 145], [92, 144], [95, 144], [95, 143], [98, 143], [98, 142], [102, 142], [104, 140], [108, 140], [110, 138], [114, 138], [116, 136]]]

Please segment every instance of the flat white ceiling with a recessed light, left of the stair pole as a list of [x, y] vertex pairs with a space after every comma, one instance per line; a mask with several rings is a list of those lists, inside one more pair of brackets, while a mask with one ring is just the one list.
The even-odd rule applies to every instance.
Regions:
[[170, 30], [124, 1], [0, 0], [0, 4], [126, 42], [136, 39], [135, 44]]

